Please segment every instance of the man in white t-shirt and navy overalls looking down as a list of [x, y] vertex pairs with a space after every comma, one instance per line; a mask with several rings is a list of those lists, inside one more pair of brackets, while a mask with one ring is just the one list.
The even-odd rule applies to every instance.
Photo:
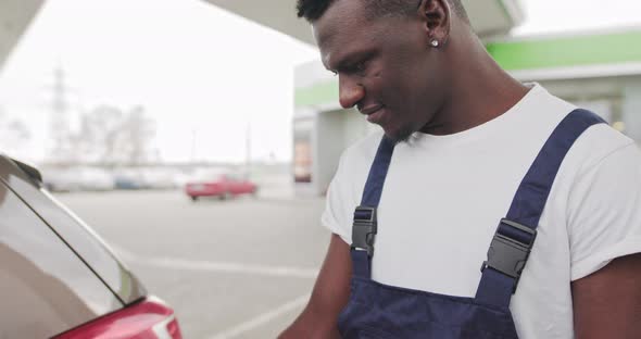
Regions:
[[[299, 0], [298, 10], [338, 75], [341, 105], [382, 130], [341, 158], [322, 218], [327, 256], [280, 338], [641, 338], [632, 140], [513, 79], [460, 0]], [[568, 135], [562, 156], [550, 155]], [[551, 168], [553, 186], [520, 185]], [[497, 228], [538, 202], [532, 225]]]

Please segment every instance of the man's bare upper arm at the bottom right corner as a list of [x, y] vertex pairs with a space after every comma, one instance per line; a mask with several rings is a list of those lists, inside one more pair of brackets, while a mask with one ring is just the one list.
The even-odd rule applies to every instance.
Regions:
[[641, 253], [571, 282], [577, 339], [641, 338]]

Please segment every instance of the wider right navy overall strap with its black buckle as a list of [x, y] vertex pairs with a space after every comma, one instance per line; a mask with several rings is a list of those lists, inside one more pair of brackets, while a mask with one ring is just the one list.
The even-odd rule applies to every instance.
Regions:
[[604, 121], [594, 113], [575, 110], [554, 129], [520, 183], [507, 216], [499, 223], [481, 267], [477, 303], [508, 309], [558, 168], [579, 136], [600, 123]]

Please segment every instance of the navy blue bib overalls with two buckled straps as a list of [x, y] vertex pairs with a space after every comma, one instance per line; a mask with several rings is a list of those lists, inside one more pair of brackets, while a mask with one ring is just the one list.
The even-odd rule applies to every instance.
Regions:
[[603, 120], [595, 114], [576, 110], [552, 133], [520, 183], [507, 216], [499, 223], [488, 260], [481, 266], [475, 298], [430, 293], [372, 280], [376, 209], [394, 149], [393, 142], [384, 137], [369, 170], [361, 205], [354, 212], [350, 301], [338, 319], [342, 337], [518, 338], [510, 300], [537, 237], [536, 228], [554, 177], [575, 140], [599, 123]]

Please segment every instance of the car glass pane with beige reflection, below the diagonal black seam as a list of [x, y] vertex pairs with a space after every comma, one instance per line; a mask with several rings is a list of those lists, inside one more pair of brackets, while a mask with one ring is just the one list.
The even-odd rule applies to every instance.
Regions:
[[78, 256], [0, 183], [0, 337], [47, 338], [122, 307]]

